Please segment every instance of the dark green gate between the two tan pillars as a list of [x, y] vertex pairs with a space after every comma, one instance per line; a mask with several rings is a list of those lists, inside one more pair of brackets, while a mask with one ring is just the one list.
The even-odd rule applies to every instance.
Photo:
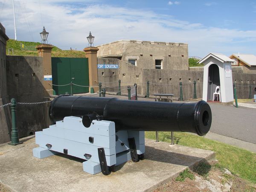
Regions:
[[74, 94], [88, 93], [89, 87], [81, 87], [89, 86], [88, 58], [52, 57], [52, 84], [57, 95], [71, 93], [71, 89]]

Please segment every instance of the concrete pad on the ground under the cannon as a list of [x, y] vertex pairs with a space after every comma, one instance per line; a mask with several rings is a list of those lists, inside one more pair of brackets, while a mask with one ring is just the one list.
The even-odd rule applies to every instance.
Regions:
[[83, 172], [83, 160], [64, 154], [33, 157], [35, 138], [23, 144], [0, 146], [0, 182], [11, 191], [150, 191], [200, 161], [214, 160], [215, 153], [182, 145], [145, 140], [145, 159], [116, 166], [105, 176]]

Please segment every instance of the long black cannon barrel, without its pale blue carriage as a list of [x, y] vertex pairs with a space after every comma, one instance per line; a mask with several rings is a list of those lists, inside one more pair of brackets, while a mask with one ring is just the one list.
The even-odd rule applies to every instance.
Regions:
[[61, 95], [53, 100], [49, 109], [52, 123], [65, 116], [92, 113], [115, 122], [116, 131], [183, 131], [203, 136], [212, 122], [211, 109], [204, 101], [169, 103]]

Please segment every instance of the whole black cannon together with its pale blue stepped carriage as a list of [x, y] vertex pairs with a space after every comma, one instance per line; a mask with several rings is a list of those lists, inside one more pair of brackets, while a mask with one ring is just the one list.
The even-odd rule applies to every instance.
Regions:
[[36, 132], [34, 157], [57, 153], [87, 160], [90, 174], [110, 174], [114, 166], [144, 157], [144, 131], [185, 131], [207, 134], [209, 105], [131, 101], [87, 96], [58, 96], [49, 108], [54, 125]]

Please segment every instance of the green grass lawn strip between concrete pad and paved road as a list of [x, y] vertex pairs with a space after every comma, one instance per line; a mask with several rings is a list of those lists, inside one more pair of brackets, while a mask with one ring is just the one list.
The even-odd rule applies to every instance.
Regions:
[[[155, 132], [145, 131], [145, 137], [155, 140]], [[218, 166], [227, 168], [252, 183], [256, 183], [256, 154], [225, 143], [209, 140], [197, 135], [175, 132], [175, 143], [179, 145], [215, 151]], [[159, 141], [171, 142], [171, 132], [159, 132]]]

